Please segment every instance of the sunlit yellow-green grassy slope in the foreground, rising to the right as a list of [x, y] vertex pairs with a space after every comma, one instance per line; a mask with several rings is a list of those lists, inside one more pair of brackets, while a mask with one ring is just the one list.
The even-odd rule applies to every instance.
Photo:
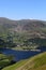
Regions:
[[46, 52], [2, 70], [46, 70]]

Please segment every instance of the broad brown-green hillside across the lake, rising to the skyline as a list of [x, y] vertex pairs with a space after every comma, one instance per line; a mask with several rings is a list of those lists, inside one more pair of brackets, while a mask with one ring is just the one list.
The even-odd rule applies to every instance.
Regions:
[[[32, 46], [46, 46], [46, 22], [36, 19], [12, 20], [0, 17], [0, 39], [4, 41], [4, 46], [19, 45], [19, 48], [15, 47], [14, 50], [31, 50]], [[13, 43], [7, 42], [7, 40]]]

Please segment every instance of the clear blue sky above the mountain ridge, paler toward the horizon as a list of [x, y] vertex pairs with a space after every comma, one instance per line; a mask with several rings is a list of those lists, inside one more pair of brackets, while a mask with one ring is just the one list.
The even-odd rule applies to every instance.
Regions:
[[0, 0], [0, 17], [46, 20], [46, 0]]

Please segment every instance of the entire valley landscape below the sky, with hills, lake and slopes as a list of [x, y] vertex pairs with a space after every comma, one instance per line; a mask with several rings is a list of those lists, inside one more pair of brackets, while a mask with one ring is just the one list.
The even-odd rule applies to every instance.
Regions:
[[0, 69], [42, 68], [46, 69], [46, 22], [0, 17]]

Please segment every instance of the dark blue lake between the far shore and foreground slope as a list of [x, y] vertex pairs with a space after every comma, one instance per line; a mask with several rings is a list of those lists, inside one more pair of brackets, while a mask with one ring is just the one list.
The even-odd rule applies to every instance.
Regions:
[[14, 51], [10, 48], [0, 48], [0, 52], [2, 52], [5, 55], [13, 55], [15, 61], [18, 61], [20, 59], [26, 59], [39, 53], [42, 53], [42, 52], [32, 52], [32, 51]]

